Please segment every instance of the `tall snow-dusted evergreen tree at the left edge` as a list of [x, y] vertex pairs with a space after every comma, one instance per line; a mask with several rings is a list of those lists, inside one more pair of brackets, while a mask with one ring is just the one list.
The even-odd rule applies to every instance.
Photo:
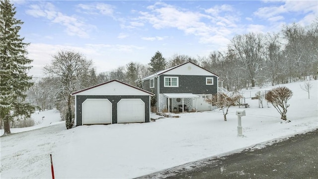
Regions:
[[23, 22], [17, 20], [15, 7], [9, 0], [0, 0], [0, 118], [4, 134], [10, 134], [9, 122], [14, 117], [29, 117], [34, 107], [25, 102], [25, 92], [33, 85], [27, 72], [32, 68], [26, 57], [26, 47], [19, 30]]

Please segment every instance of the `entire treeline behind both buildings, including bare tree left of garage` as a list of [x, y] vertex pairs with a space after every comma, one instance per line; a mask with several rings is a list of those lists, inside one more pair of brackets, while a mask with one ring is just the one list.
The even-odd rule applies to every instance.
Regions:
[[306, 27], [297, 23], [286, 25], [280, 33], [236, 35], [227, 47], [207, 57], [174, 54], [165, 59], [157, 51], [148, 64], [130, 62], [99, 74], [79, 52], [60, 51], [44, 68], [46, 77], [29, 89], [28, 99], [40, 110], [55, 106], [62, 119], [73, 118], [74, 91], [113, 79], [136, 86], [142, 77], [188, 61], [219, 75], [229, 91], [274, 86], [307, 77], [317, 80], [318, 19]]

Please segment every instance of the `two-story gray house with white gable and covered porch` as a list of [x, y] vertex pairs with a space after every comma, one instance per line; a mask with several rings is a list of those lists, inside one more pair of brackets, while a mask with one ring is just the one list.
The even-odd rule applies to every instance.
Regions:
[[[187, 62], [142, 79], [143, 89], [155, 93], [157, 109], [207, 111], [212, 105], [205, 98], [223, 89], [223, 80], [206, 69]], [[219, 88], [220, 87], [220, 88]]]

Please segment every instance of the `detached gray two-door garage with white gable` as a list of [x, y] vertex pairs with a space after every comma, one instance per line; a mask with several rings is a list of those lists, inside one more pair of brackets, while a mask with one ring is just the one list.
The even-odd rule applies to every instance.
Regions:
[[150, 122], [153, 93], [118, 80], [72, 93], [76, 125]]

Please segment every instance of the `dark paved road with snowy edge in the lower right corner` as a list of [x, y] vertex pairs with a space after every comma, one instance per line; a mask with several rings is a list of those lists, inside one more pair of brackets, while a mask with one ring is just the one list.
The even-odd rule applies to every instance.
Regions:
[[262, 149], [198, 161], [140, 179], [318, 179], [318, 129]]

